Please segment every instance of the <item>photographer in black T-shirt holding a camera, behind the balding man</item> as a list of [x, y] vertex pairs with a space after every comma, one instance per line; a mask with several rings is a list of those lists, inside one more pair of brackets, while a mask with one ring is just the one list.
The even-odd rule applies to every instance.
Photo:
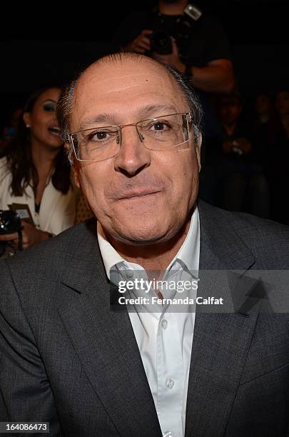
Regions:
[[[208, 93], [232, 91], [233, 65], [222, 26], [215, 17], [202, 13], [198, 19], [192, 19], [184, 12], [187, 4], [187, 0], [160, 0], [153, 11], [131, 13], [114, 34], [114, 43], [126, 51], [147, 54], [176, 67], [193, 77], [198, 90]], [[183, 19], [185, 23], [181, 22]], [[177, 33], [183, 31], [184, 34], [181, 48], [176, 41], [176, 26]], [[151, 37], [160, 30], [171, 34], [170, 54], [153, 51]]]

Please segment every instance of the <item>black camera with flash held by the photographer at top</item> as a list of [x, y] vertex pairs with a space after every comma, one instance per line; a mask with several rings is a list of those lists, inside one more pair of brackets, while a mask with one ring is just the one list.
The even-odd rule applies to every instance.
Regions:
[[153, 27], [156, 30], [150, 36], [151, 51], [157, 54], [171, 54], [173, 51], [171, 37], [173, 37], [176, 40], [181, 60], [186, 62], [188, 38], [191, 35], [194, 21], [200, 19], [201, 15], [201, 9], [192, 4], [186, 6], [181, 16], [164, 16], [158, 13], [153, 19]]

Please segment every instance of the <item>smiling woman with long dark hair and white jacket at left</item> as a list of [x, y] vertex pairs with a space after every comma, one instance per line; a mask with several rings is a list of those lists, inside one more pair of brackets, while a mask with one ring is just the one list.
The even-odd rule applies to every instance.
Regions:
[[[20, 211], [23, 248], [64, 231], [75, 219], [76, 193], [55, 115], [60, 92], [49, 86], [31, 94], [0, 159], [0, 209]], [[0, 235], [14, 246], [18, 238]]]

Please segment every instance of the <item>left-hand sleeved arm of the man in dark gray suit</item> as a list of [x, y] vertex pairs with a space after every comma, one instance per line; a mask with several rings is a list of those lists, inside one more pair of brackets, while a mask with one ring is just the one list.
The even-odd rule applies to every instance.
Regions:
[[50, 422], [61, 429], [34, 333], [5, 261], [0, 263], [0, 421]]

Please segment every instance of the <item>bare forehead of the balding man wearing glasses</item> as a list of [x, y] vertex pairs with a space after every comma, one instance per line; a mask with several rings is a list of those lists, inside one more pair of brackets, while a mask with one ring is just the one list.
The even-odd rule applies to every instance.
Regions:
[[[160, 112], [172, 114], [186, 109], [186, 99], [176, 81], [156, 61], [108, 61], [94, 64], [81, 76], [73, 96], [71, 129], [87, 129], [89, 120], [108, 114], [121, 124], [154, 116], [147, 107], [167, 106]], [[160, 114], [161, 115], [161, 114]], [[83, 127], [84, 126], [84, 127]]]

